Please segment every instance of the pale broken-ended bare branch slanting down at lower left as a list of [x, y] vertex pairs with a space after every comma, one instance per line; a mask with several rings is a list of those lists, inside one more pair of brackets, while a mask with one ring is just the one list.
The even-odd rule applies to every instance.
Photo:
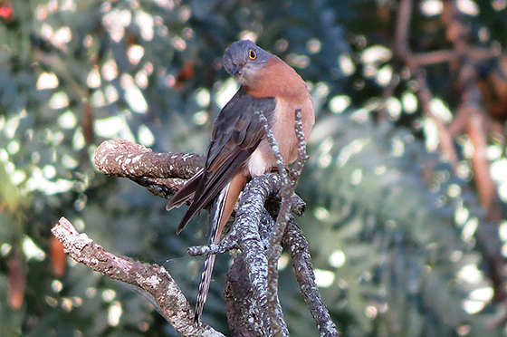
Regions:
[[163, 266], [141, 264], [129, 257], [106, 252], [86, 234], [78, 233], [64, 217], [53, 226], [52, 232], [62, 242], [65, 252], [77, 262], [113, 280], [146, 290], [157, 301], [167, 322], [183, 336], [224, 336], [208, 325], [194, 322], [194, 313], [187, 298]]

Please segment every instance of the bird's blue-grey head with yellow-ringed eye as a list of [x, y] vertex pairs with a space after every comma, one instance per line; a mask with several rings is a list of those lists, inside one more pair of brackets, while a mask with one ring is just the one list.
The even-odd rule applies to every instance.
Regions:
[[249, 40], [242, 40], [231, 44], [225, 50], [222, 63], [227, 72], [242, 84], [253, 80], [253, 75], [274, 57], [257, 44]]

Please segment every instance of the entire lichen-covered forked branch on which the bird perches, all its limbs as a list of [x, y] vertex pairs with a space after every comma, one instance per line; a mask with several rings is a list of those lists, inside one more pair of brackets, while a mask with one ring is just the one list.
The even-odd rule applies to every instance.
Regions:
[[[306, 240], [291, 216], [292, 211], [298, 215], [304, 211], [305, 204], [294, 194], [294, 188], [307, 158], [301, 111], [295, 113], [299, 158], [290, 173], [283, 164], [273, 133], [260, 114], [278, 158], [280, 174], [269, 173], [253, 178], [247, 184], [238, 202], [234, 224], [219, 245], [188, 249], [190, 255], [219, 254], [233, 248], [241, 250], [229, 271], [225, 287], [227, 317], [234, 335], [289, 335], [278, 301], [277, 262], [282, 244], [291, 251], [301, 295], [310, 307], [320, 335], [339, 335], [315, 285]], [[129, 178], [166, 198], [202, 168], [204, 162], [204, 158], [196, 154], [154, 153], [127, 140], [103, 142], [94, 159], [102, 173]], [[151, 294], [160, 312], [177, 332], [184, 336], [222, 336], [209, 326], [196, 325], [187, 298], [163, 266], [141, 264], [129, 257], [112, 255], [85, 234], [79, 234], [63, 217], [52, 231], [76, 261], [112, 279], [137, 285]]]

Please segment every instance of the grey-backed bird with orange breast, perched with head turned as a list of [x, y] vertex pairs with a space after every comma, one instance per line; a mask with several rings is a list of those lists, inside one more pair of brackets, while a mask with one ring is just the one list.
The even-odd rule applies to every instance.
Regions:
[[[219, 112], [206, 152], [204, 168], [174, 195], [167, 210], [194, 197], [178, 228], [179, 234], [201, 209], [209, 212], [209, 245], [220, 243], [246, 183], [276, 168], [276, 159], [256, 112], [266, 117], [285, 165], [298, 157], [295, 111], [301, 110], [302, 130], [308, 139], [315, 113], [308, 85], [290, 65], [253, 41], [241, 40], [225, 50], [225, 71], [239, 82], [239, 90]], [[215, 255], [206, 255], [196, 300], [196, 323], [206, 303]]]

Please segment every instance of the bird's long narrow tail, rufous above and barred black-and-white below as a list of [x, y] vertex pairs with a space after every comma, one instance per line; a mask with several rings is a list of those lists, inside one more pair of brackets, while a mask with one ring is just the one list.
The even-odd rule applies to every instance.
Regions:
[[[220, 242], [220, 235], [225, 224], [234, 211], [234, 206], [239, 194], [246, 185], [247, 178], [243, 174], [236, 175], [215, 200], [210, 209], [209, 223], [211, 226], [209, 233], [209, 245], [217, 245]], [[203, 274], [201, 274], [201, 283], [199, 284], [199, 292], [197, 293], [196, 302], [196, 322], [201, 321], [201, 315], [206, 303], [209, 284], [211, 283], [211, 274], [215, 265], [216, 255], [206, 255]]]

